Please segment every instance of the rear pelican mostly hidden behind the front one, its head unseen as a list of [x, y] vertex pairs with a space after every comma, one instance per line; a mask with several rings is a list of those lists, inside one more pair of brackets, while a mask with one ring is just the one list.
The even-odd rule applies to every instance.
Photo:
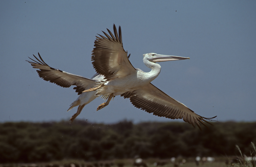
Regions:
[[[130, 57], [130, 55], [131, 54], [129, 54], [128, 58]], [[50, 67], [44, 62], [44, 60], [42, 59], [39, 53], [38, 53], [38, 56], [41, 60], [39, 60], [35, 55], [33, 56], [36, 58], [38, 62], [36, 60], [33, 60], [30, 57], [28, 58], [30, 58], [34, 62], [28, 61], [28, 60], [26, 61], [31, 63], [33, 68], [39, 69], [36, 71], [40, 78], [43, 78], [46, 81], [55, 83], [61, 87], [70, 87], [71, 85], [76, 86], [73, 89], [76, 89], [76, 92], [78, 93], [79, 96], [73, 103], [71, 103], [68, 109], [69, 111], [72, 108], [78, 106], [77, 112], [69, 119], [71, 122], [73, 122], [75, 118], [81, 113], [84, 106], [86, 104], [89, 104], [90, 102], [92, 102], [94, 99], [98, 97], [98, 96], [95, 96], [94, 92], [82, 92], [82, 91], [89, 89], [90, 87], [93, 87], [95, 84], [97, 84], [101, 80], [105, 81], [104, 76], [100, 75], [99, 73], [96, 73], [92, 76], [91, 79], [85, 78], [79, 75], [71, 74], [71, 73]]]

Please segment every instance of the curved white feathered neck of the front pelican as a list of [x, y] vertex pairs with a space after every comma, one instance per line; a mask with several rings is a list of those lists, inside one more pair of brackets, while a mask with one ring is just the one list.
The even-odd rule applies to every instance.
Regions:
[[143, 62], [148, 68], [151, 68], [150, 72], [146, 72], [146, 76], [145, 76], [146, 80], [148, 80], [149, 82], [151, 82], [152, 80], [155, 80], [156, 77], [161, 72], [161, 66], [157, 63], [148, 61], [147, 59], [143, 59]]

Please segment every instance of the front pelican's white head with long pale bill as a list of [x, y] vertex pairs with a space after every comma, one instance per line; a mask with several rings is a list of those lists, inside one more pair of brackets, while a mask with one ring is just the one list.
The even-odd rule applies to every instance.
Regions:
[[179, 57], [179, 56], [168, 56], [168, 55], [159, 55], [156, 53], [147, 53], [143, 55], [143, 59], [147, 59], [153, 63], [164, 62], [164, 61], [173, 61], [173, 60], [185, 60], [190, 59], [189, 57]]

